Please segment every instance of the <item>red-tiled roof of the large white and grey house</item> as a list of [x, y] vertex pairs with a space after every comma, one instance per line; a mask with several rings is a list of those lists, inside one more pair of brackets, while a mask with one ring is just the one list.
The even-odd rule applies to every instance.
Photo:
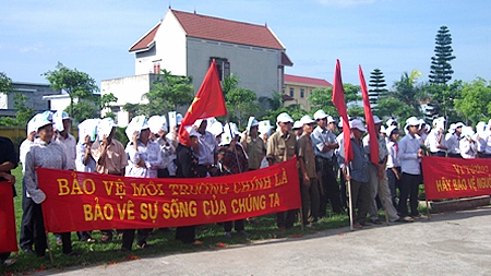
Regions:
[[[267, 26], [176, 10], [171, 10], [171, 12], [189, 37], [285, 50], [285, 47]], [[160, 23], [135, 43], [130, 48], [130, 52], [145, 50], [152, 46], [159, 26]]]

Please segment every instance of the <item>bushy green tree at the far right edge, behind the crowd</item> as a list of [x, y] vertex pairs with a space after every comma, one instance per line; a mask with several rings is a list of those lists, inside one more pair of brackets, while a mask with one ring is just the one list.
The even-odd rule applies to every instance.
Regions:
[[474, 123], [489, 119], [491, 115], [491, 83], [482, 77], [478, 77], [471, 83], [464, 83], [462, 98], [455, 100], [455, 109]]

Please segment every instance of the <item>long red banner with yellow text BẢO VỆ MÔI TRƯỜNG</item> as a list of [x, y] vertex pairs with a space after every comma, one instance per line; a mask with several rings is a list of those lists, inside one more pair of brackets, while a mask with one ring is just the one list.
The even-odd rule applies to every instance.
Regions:
[[212, 224], [300, 208], [297, 159], [240, 175], [124, 178], [37, 169], [49, 232]]

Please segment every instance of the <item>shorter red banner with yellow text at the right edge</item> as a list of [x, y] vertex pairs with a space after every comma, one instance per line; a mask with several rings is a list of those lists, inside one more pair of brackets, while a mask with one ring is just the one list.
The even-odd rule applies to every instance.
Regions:
[[491, 159], [423, 157], [427, 200], [491, 194]]

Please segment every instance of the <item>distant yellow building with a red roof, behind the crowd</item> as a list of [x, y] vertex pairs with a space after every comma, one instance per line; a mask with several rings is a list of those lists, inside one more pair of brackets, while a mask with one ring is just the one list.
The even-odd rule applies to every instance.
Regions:
[[333, 85], [323, 79], [285, 74], [285, 106], [300, 105], [304, 110], [312, 109], [308, 97], [315, 88], [325, 89]]

